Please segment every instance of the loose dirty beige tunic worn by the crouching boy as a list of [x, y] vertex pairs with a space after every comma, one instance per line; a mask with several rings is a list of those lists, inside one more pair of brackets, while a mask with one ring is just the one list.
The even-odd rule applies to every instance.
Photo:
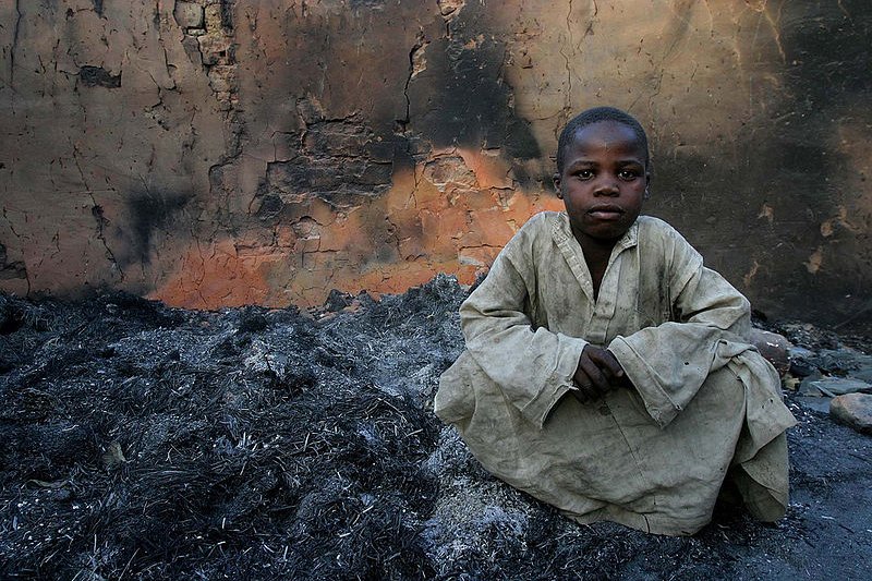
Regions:
[[[748, 343], [750, 305], [666, 222], [640, 217], [597, 300], [565, 213], [533, 217], [460, 308], [467, 350], [436, 413], [496, 476], [581, 521], [662, 534], [707, 523], [727, 470], [756, 516], [787, 506], [775, 370]], [[564, 397], [588, 342], [634, 389]]]

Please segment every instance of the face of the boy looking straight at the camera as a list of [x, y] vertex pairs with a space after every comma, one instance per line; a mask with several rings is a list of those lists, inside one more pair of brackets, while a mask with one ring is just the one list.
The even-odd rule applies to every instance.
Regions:
[[616, 242], [639, 217], [647, 187], [645, 150], [633, 130], [617, 121], [580, 129], [554, 175], [572, 233], [582, 245]]

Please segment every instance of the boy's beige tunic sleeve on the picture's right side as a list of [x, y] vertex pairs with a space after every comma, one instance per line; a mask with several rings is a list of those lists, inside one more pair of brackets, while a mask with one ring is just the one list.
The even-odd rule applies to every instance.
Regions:
[[725, 361], [718, 346], [748, 343], [751, 307], [700, 254], [676, 233], [667, 246], [665, 289], [674, 320], [617, 337], [608, 349], [623, 366], [649, 414], [666, 426]]

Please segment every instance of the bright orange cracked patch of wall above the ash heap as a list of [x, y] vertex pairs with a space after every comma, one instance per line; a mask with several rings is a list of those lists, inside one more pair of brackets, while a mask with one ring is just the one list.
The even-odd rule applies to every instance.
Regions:
[[[314, 306], [325, 289], [397, 293], [439, 273], [469, 285], [530, 216], [562, 206], [550, 193], [507, 187], [506, 168], [491, 156], [461, 150], [437, 159], [445, 160], [441, 174], [423, 166], [397, 174], [384, 197], [349, 213], [337, 216], [313, 201], [305, 216], [315, 218], [277, 229], [278, 250], [230, 240], [193, 244], [152, 296], [197, 308]], [[467, 180], [443, 181], [449, 171]]]

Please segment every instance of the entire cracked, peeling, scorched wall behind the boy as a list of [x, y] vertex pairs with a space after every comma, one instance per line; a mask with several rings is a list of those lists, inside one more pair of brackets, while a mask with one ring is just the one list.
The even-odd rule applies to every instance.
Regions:
[[0, 45], [7, 292], [471, 282], [607, 104], [649, 129], [646, 213], [756, 308], [872, 327], [860, 0], [10, 0]]

